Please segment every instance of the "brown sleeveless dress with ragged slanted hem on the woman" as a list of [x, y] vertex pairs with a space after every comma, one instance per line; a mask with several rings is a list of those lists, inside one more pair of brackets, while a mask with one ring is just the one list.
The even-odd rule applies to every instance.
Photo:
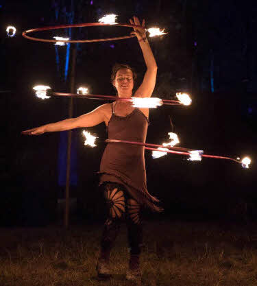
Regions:
[[[112, 117], [108, 123], [108, 139], [138, 141], [145, 143], [149, 121], [143, 112], [134, 108], [127, 116], [115, 115], [112, 104]], [[128, 193], [139, 204], [152, 211], [162, 211], [156, 206], [159, 200], [147, 191], [145, 172], [145, 147], [127, 143], [108, 143], [101, 158], [100, 182], [123, 184]]]

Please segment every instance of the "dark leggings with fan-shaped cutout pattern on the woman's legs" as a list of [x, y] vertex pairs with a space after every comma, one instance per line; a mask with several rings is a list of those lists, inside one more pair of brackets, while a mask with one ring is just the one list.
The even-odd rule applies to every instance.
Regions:
[[140, 219], [140, 204], [127, 194], [122, 184], [106, 182], [102, 184], [108, 206], [108, 218], [101, 237], [101, 257], [109, 260], [110, 250], [125, 218], [130, 254], [139, 256], [143, 244], [143, 230]]

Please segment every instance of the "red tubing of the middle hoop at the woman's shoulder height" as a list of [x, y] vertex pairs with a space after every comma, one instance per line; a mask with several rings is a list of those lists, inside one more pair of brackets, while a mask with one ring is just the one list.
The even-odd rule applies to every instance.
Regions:
[[[101, 99], [101, 100], [120, 100], [121, 102], [132, 102], [131, 97], [117, 97], [114, 95], [78, 95], [77, 93], [51, 93], [53, 96], [61, 96], [61, 97], [77, 97], [77, 98], [88, 98], [88, 99]], [[177, 100], [168, 100], [163, 99], [163, 104], [165, 105], [182, 105], [181, 102]]]

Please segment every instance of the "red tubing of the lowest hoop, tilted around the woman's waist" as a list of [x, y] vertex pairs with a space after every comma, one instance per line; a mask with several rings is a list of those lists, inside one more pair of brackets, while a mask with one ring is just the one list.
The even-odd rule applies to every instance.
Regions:
[[[168, 149], [178, 149], [180, 147], [171, 147], [171, 146], [163, 146], [163, 145], [156, 145], [156, 144], [149, 144], [149, 143], [143, 143], [143, 142], [134, 142], [134, 141], [125, 141], [125, 140], [117, 140], [117, 139], [106, 139], [106, 142], [113, 142], [113, 143], [127, 143], [127, 144], [133, 144], [133, 145], [143, 145], [145, 146], [145, 149], [147, 150], [152, 150], [152, 151], [160, 151], [160, 152], [167, 152], [167, 153], [172, 153], [172, 154], [178, 154], [178, 155], [191, 155], [191, 153], [189, 153], [189, 151], [194, 151], [191, 149], [186, 149], [186, 148], [181, 148], [181, 150], [183, 149], [186, 152], [180, 152], [180, 151], [175, 151], [175, 150], [158, 150], [156, 148], [153, 147], [162, 147], [162, 148], [168, 148]], [[240, 161], [235, 160], [233, 158], [230, 157], [223, 157], [223, 156], [214, 156], [214, 155], [208, 155], [208, 154], [202, 154], [201, 157], [206, 157], [206, 158], [215, 158], [215, 159], [225, 159], [225, 160], [232, 160], [236, 163], [240, 163]]]

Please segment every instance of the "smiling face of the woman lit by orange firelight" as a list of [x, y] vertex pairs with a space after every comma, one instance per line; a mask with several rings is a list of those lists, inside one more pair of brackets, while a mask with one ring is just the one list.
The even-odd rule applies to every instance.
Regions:
[[113, 85], [116, 87], [119, 96], [132, 96], [134, 88], [133, 72], [131, 69], [119, 69], [116, 73]]

